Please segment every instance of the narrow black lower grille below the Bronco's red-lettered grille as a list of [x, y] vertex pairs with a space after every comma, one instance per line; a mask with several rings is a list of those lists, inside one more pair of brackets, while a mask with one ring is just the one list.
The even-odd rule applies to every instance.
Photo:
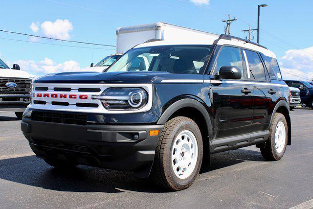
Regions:
[[75, 125], [87, 124], [86, 115], [49, 113], [49, 112], [39, 112], [39, 111], [32, 112], [31, 120], [52, 122], [52, 123], [75, 124]]

